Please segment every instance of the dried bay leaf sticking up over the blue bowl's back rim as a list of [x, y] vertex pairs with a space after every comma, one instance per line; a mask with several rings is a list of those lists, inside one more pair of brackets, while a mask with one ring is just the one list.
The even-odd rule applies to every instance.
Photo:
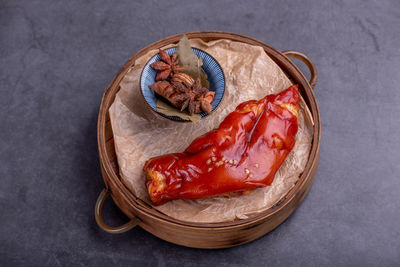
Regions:
[[203, 66], [203, 61], [193, 52], [189, 43], [189, 39], [186, 35], [184, 35], [179, 41], [176, 55], [179, 60], [179, 66], [185, 66], [181, 72], [190, 75], [193, 79], [200, 78], [201, 85], [207, 89], [210, 89], [210, 84], [207, 80], [207, 74], [201, 67]]

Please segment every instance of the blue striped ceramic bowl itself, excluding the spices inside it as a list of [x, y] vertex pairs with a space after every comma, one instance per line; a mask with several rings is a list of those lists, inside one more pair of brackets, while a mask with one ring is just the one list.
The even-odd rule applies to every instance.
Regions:
[[[210, 114], [218, 107], [218, 105], [221, 103], [222, 98], [224, 97], [225, 93], [225, 76], [224, 72], [222, 71], [221, 66], [218, 64], [218, 62], [209, 54], [204, 52], [203, 50], [193, 48], [193, 52], [196, 54], [198, 58], [201, 58], [203, 60], [203, 70], [207, 74], [207, 80], [210, 83], [210, 91], [215, 92], [215, 96], [213, 101], [211, 102], [212, 106], [212, 111]], [[172, 55], [173, 53], [176, 53], [176, 47], [168, 48], [165, 50], [169, 55]], [[154, 70], [152, 67], [150, 67], [150, 64], [159, 61], [160, 60], [160, 55], [157, 54], [153, 56], [144, 66], [142, 75], [140, 77], [140, 88], [141, 88], [141, 93], [144, 97], [144, 100], [147, 102], [148, 106], [156, 113], [160, 114], [164, 118], [173, 120], [173, 121], [179, 121], [179, 122], [190, 122], [189, 120], [184, 120], [182, 118], [176, 117], [176, 116], [167, 116], [162, 113], [157, 112], [157, 99], [160, 98], [158, 94], [156, 94], [153, 89], [149, 87], [149, 85], [153, 84], [156, 82], [156, 74], [157, 71]], [[206, 114], [204, 112], [200, 113], [200, 116], [202, 118], [210, 115]]]

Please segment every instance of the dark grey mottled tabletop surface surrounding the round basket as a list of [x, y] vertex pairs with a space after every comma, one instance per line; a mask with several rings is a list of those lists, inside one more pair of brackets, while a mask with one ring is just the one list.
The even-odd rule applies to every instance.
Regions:
[[[0, 265], [400, 262], [400, 1], [0, 1]], [[96, 119], [125, 61], [176, 33], [249, 35], [316, 64], [314, 185], [270, 234], [197, 250], [102, 232]], [[304, 68], [303, 68], [304, 69]], [[109, 201], [106, 221], [127, 218]]]

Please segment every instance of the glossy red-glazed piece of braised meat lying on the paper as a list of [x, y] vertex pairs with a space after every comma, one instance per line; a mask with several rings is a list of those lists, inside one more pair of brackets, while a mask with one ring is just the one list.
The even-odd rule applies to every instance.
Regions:
[[[196, 138], [183, 153], [149, 159], [143, 171], [153, 203], [270, 185], [296, 142], [298, 100], [294, 85], [241, 103], [218, 129]], [[293, 113], [282, 104], [293, 105]]]

